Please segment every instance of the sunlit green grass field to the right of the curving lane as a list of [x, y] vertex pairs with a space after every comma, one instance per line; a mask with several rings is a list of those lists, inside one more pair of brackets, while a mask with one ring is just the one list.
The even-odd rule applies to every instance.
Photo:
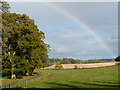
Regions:
[[43, 76], [29, 81], [26, 88], [117, 88], [118, 66], [72, 69], [35, 70]]

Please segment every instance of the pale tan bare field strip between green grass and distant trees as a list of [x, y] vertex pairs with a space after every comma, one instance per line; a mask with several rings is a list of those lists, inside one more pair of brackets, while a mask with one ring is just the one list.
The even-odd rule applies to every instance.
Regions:
[[[107, 63], [92, 63], [92, 64], [62, 64], [63, 69], [73, 69], [75, 66], [78, 68], [95, 68], [95, 67], [105, 67], [105, 66], [113, 66], [116, 62], [107, 62]], [[55, 69], [55, 65], [50, 67], [46, 67], [44, 69]]]

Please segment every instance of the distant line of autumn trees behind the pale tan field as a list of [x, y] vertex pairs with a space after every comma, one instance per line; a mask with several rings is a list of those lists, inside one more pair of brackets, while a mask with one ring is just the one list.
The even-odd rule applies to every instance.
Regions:
[[86, 63], [103, 63], [103, 62], [111, 62], [114, 61], [114, 59], [90, 59], [90, 60], [79, 60], [79, 59], [73, 59], [73, 58], [49, 58], [47, 60], [47, 65], [53, 65], [53, 64], [86, 64]]

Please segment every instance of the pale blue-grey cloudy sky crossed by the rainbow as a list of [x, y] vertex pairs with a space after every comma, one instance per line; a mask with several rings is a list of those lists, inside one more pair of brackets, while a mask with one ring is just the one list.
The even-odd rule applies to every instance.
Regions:
[[[35, 20], [39, 30], [45, 33], [45, 42], [51, 46], [50, 58], [87, 60], [117, 56], [117, 2], [9, 2], [9, 4], [11, 12], [29, 15]], [[100, 42], [96, 36], [106, 44]]]

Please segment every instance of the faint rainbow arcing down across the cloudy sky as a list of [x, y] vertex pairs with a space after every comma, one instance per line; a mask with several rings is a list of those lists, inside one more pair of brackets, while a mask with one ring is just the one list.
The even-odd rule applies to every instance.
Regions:
[[60, 6], [56, 5], [55, 3], [47, 2], [46, 3], [49, 7], [56, 9], [57, 12], [62, 13], [69, 19], [76, 22], [85, 32], [89, 35], [93, 36], [95, 40], [112, 56], [115, 57], [115, 53], [113, 52], [112, 48], [87, 24], [83, 23], [83, 21], [73, 15], [72, 13], [68, 12], [67, 10], [61, 8]]

